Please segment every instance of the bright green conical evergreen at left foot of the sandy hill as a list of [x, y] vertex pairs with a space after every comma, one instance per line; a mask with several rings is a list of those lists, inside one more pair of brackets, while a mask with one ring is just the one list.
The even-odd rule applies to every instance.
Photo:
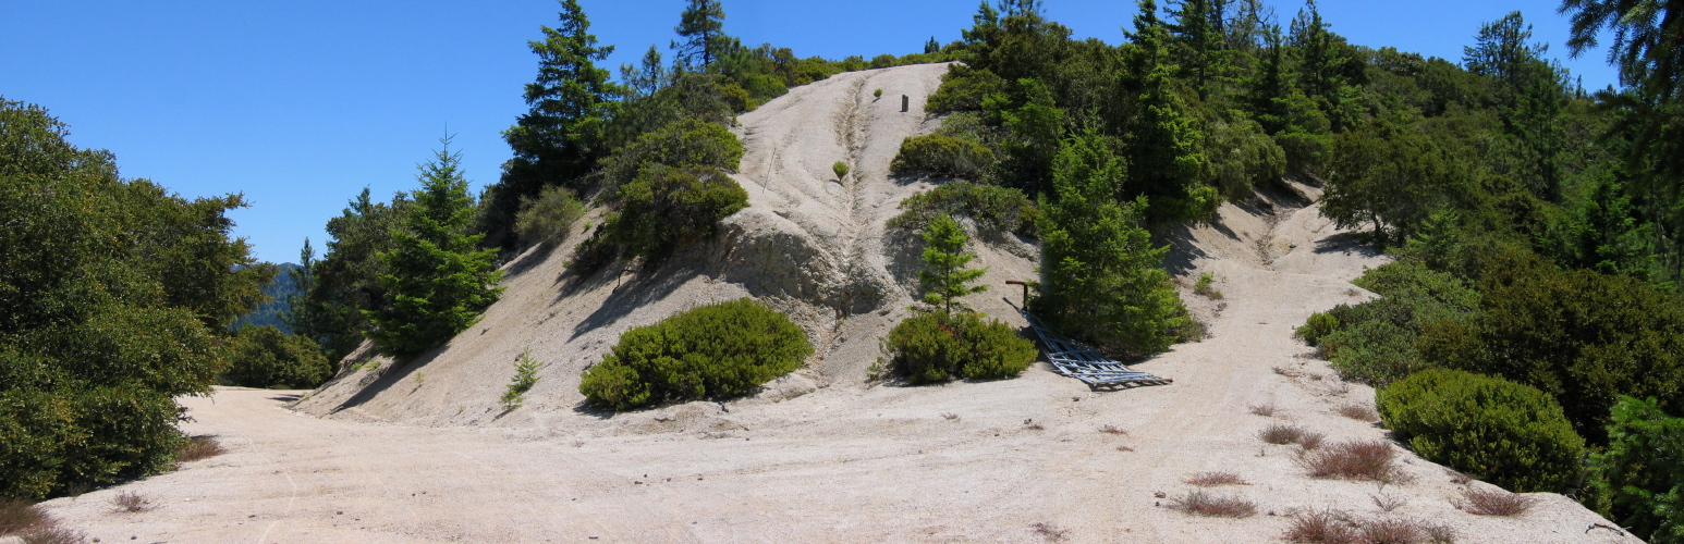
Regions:
[[473, 327], [480, 312], [497, 301], [504, 288], [492, 256], [493, 249], [475, 249], [483, 234], [465, 234], [473, 219], [468, 180], [458, 163], [461, 153], [443, 150], [418, 167], [421, 189], [414, 207], [404, 217], [408, 229], [396, 234], [397, 248], [381, 254], [387, 271], [381, 275], [387, 307], [365, 312], [374, 322], [369, 337], [386, 354], [408, 359], [448, 342]]

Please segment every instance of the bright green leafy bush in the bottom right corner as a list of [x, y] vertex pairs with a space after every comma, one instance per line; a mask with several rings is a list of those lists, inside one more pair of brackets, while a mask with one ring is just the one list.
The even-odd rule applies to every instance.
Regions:
[[1684, 418], [1620, 396], [1608, 421], [1608, 450], [1591, 455], [1603, 515], [1649, 542], [1684, 542]]

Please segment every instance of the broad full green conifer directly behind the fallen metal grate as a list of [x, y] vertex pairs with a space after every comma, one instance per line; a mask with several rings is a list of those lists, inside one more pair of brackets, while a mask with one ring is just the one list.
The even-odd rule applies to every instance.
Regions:
[[1145, 355], [1191, 325], [1164, 271], [1169, 248], [1142, 227], [1143, 200], [1120, 202], [1123, 165], [1100, 136], [1064, 145], [1054, 160], [1058, 200], [1041, 202], [1041, 275], [1029, 305], [1073, 339]]

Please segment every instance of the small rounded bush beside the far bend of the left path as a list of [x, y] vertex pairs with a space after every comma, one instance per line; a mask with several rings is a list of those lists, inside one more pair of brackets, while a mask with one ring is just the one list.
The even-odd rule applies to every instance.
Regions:
[[333, 377], [322, 347], [274, 327], [244, 327], [222, 382], [242, 387], [312, 389]]

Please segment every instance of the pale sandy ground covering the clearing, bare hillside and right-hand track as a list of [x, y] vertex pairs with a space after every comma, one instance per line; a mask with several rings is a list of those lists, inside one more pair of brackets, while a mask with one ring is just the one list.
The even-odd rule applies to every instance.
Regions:
[[[524, 256], [505, 300], [448, 347], [399, 369], [372, 359], [315, 392], [185, 399], [184, 428], [229, 453], [45, 507], [103, 542], [1276, 542], [1303, 509], [1443, 524], [1460, 542], [1635, 541], [1586, 534], [1607, 520], [1553, 493], [1521, 517], [1462, 512], [1463, 487], [1406, 451], [1413, 480], [1379, 487], [1310, 478], [1295, 446], [1256, 438], [1271, 423], [1329, 441], [1384, 436], [1335, 414], [1372, 406], [1372, 389], [1340, 382], [1292, 337], [1312, 312], [1372, 296], [1349, 280], [1384, 263], [1319, 216], [1314, 187], [1162, 232], [1170, 269], [1189, 285], [1212, 273], [1224, 295], [1184, 293], [1209, 337], [1137, 364], [1172, 386], [1096, 392], [1044, 362], [1010, 381], [866, 382], [876, 339], [911, 301], [916, 258], [882, 221], [928, 187], [882, 170], [899, 138], [931, 130], [918, 111], [941, 69], [842, 74], [744, 115], [738, 179], [753, 207], [695, 254], [618, 278], [569, 278], [564, 251]], [[894, 94], [914, 111], [887, 104]], [[835, 160], [855, 179], [832, 180]], [[1032, 248], [973, 249], [997, 288], [970, 301], [1021, 325], [1000, 283], [1032, 275]], [[581, 404], [578, 372], [621, 330], [733, 296], [790, 312], [820, 352], [748, 399]], [[547, 365], [505, 414], [495, 399], [522, 349]], [[1273, 416], [1251, 413], [1263, 404]], [[1250, 482], [1216, 492], [1258, 515], [1167, 507], [1211, 470]], [[155, 507], [115, 512], [120, 492]], [[1381, 512], [1374, 497], [1406, 502]]]

